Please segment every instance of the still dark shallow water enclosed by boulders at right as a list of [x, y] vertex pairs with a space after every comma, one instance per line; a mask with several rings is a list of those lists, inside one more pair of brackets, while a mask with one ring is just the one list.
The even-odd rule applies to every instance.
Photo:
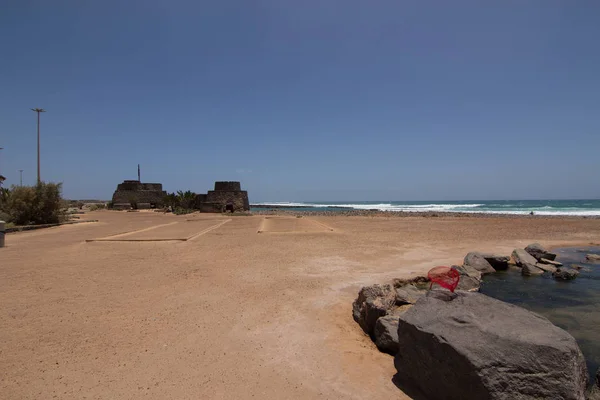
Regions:
[[556, 253], [565, 266], [584, 267], [577, 279], [563, 282], [549, 273], [524, 277], [517, 269], [499, 271], [485, 276], [481, 293], [543, 315], [573, 335], [592, 379], [600, 367], [600, 264], [586, 263], [585, 255], [600, 254], [600, 247], [563, 248]]

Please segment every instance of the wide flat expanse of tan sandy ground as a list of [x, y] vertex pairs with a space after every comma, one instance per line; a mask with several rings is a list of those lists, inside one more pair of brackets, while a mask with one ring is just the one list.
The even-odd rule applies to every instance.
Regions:
[[[3, 399], [399, 399], [361, 286], [600, 220], [87, 213], [0, 249]], [[91, 240], [91, 241], [87, 241]]]

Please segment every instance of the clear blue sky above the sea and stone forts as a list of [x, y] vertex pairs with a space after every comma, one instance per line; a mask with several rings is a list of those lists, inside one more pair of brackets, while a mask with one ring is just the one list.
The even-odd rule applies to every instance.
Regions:
[[0, 172], [251, 201], [600, 197], [600, 2], [42, 1], [0, 12]]

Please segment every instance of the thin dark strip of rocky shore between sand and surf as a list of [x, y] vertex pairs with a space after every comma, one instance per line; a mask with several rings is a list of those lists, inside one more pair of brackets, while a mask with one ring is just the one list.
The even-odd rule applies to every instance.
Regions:
[[[381, 210], [357, 210], [344, 207], [330, 207], [326, 210], [300, 210], [306, 207], [300, 206], [250, 206], [254, 215], [282, 215], [282, 216], [306, 216], [306, 217], [424, 217], [424, 218], [540, 218], [540, 219], [600, 219], [600, 216], [579, 215], [530, 215], [530, 214], [495, 214], [495, 213], [468, 213], [468, 212], [434, 212], [434, 211], [381, 211]], [[259, 208], [259, 210], [257, 210]], [[333, 210], [335, 208], [335, 210]]]

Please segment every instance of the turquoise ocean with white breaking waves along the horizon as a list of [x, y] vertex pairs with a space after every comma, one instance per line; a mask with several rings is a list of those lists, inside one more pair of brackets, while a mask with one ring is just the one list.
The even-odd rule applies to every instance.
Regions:
[[297, 211], [381, 210], [402, 212], [458, 212], [486, 214], [600, 216], [600, 200], [487, 200], [487, 201], [356, 201], [264, 202], [256, 208], [293, 208]]

